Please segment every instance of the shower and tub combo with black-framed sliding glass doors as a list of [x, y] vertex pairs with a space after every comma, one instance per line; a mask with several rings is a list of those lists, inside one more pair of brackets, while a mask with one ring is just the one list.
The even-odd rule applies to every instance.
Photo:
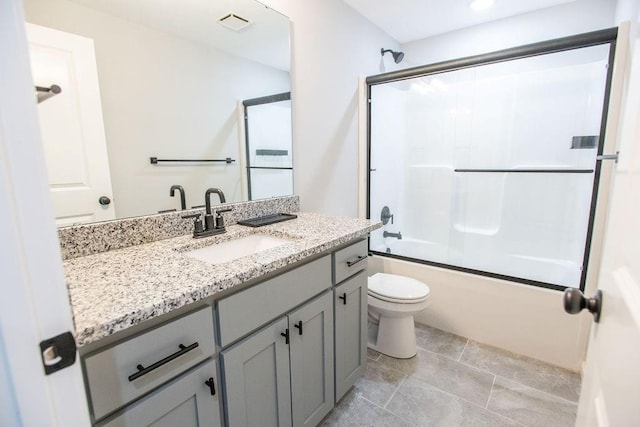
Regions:
[[580, 369], [590, 319], [558, 291], [594, 292], [616, 36], [367, 78], [370, 270], [429, 286], [418, 322]]

